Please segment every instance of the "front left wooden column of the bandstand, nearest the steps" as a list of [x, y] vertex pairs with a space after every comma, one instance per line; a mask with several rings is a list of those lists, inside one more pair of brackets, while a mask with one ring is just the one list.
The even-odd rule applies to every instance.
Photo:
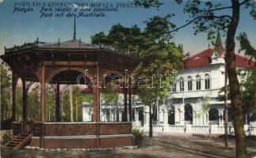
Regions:
[[44, 122], [44, 110], [45, 110], [45, 78], [44, 78], [44, 64], [41, 66], [41, 80], [40, 80], [40, 121]]

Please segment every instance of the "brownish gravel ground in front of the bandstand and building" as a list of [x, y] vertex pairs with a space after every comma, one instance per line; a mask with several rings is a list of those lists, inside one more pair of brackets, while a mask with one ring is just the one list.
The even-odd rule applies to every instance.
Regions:
[[[209, 137], [201, 135], [175, 134], [159, 135], [153, 138], [146, 137], [143, 146], [138, 149], [118, 149], [109, 151], [39, 151], [32, 149], [21, 149], [13, 151], [2, 149], [1, 157], [124, 157], [124, 158], [155, 158], [155, 157], [235, 157], [234, 139], [229, 142], [230, 147], [224, 148], [224, 139], [219, 137]], [[256, 141], [247, 141], [248, 157], [256, 156]]]

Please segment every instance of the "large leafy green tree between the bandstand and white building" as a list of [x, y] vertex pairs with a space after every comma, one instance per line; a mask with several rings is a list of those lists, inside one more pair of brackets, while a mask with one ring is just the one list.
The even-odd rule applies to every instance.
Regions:
[[[115, 24], [109, 30], [109, 41], [111, 47], [117, 47], [120, 50], [136, 51], [141, 64], [133, 72], [136, 77], [144, 74], [147, 77], [147, 88], [137, 88], [137, 94], [143, 103], [150, 107], [157, 99], [165, 100], [169, 96], [172, 85], [172, 77], [165, 75], [166, 72], [177, 70], [182, 66], [183, 55], [181, 45], [176, 46], [170, 42], [172, 37], [170, 28], [175, 25], [168, 21], [172, 14], [166, 17], [152, 17], [145, 21], [146, 28], [143, 32], [134, 25], [131, 28], [125, 28], [120, 24]], [[161, 79], [152, 79], [152, 75], [162, 75]], [[141, 77], [141, 76], [140, 76]], [[154, 80], [154, 83], [152, 83]], [[150, 112], [151, 113], [151, 112]], [[150, 115], [150, 136], [152, 136], [152, 115]]]

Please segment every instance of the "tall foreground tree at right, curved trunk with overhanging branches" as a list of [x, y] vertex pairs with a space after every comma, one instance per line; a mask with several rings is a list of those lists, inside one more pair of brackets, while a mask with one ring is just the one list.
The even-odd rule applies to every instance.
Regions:
[[[162, 5], [159, 0], [135, 0], [135, 2], [137, 5], [142, 5], [146, 8]], [[245, 157], [246, 142], [243, 131], [241, 92], [235, 70], [235, 34], [239, 25], [241, 7], [250, 8], [250, 15], [256, 19], [256, 4], [253, 0], [243, 0], [242, 2], [231, 0], [230, 6], [222, 6], [220, 3], [213, 4], [212, 2], [202, 2], [200, 0], [184, 2], [182, 0], [176, 0], [176, 2], [184, 6], [183, 10], [185, 13], [189, 13], [190, 19], [185, 24], [169, 32], [176, 32], [189, 24], [194, 25], [195, 34], [198, 32], [208, 32], [208, 39], [212, 38], [212, 35], [216, 33], [216, 29], [227, 32], [225, 61], [231, 92], [231, 112], [234, 117], [236, 157]], [[231, 12], [224, 13], [224, 10], [227, 9], [230, 9]]]

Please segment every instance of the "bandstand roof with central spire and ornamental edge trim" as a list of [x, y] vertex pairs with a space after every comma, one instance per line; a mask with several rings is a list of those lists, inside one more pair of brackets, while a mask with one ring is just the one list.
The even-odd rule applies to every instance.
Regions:
[[[82, 42], [76, 39], [76, 32], [72, 40], [63, 42], [41, 42], [37, 38], [32, 43], [5, 47], [5, 54], [1, 58], [18, 77], [26, 81], [39, 81], [40, 66], [44, 64], [45, 75], [51, 78], [48, 82], [59, 84], [75, 84], [79, 73], [84, 70], [95, 73], [95, 66], [100, 68], [100, 73], [107, 70], [124, 73], [124, 70], [133, 70], [139, 63], [134, 52]], [[57, 69], [63, 71], [51, 77]]]

